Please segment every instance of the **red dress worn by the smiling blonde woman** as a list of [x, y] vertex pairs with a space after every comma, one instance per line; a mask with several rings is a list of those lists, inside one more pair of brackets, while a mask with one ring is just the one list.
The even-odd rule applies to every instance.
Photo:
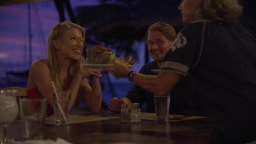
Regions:
[[[67, 91], [69, 89], [70, 84], [71, 84], [71, 81], [64, 88], [64, 91]], [[41, 93], [38, 90], [38, 88], [33, 88], [33, 89], [27, 91], [27, 98], [28, 99], [43, 99], [43, 96], [41, 95]], [[51, 107], [50, 104], [47, 104], [46, 115], [49, 117], [49, 116], [51, 116], [53, 114], [54, 114], [53, 107]]]

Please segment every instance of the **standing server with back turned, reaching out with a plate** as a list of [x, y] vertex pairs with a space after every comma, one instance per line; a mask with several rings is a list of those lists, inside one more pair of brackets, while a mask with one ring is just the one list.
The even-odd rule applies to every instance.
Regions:
[[184, 28], [166, 53], [159, 75], [132, 72], [115, 61], [107, 68], [155, 94], [165, 94], [189, 75], [203, 94], [205, 111], [220, 142], [256, 140], [256, 37], [239, 22], [238, 0], [182, 0]]

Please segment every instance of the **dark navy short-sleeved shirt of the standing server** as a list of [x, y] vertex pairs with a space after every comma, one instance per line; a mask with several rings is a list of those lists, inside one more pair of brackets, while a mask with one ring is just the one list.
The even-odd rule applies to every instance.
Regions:
[[187, 24], [163, 61], [162, 71], [189, 74], [224, 139], [256, 140], [256, 37], [250, 29], [240, 23]]

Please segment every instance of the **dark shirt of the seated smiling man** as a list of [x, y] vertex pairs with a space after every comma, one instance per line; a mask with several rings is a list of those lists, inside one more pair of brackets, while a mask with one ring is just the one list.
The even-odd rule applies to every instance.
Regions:
[[[144, 75], [157, 75], [152, 69], [159, 69], [156, 61], [149, 62], [141, 67], [139, 73]], [[190, 77], [183, 77], [170, 93], [169, 114], [176, 115], [197, 115], [207, 116], [200, 101], [200, 93], [191, 85]], [[140, 106], [147, 104], [147, 112], [155, 112], [154, 94], [149, 93], [138, 85], [134, 85], [126, 96], [133, 103], [139, 103]]]

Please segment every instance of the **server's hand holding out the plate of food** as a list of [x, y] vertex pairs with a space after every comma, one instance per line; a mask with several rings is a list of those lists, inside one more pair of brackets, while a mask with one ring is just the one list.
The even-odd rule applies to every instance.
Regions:
[[106, 67], [102, 69], [103, 72], [111, 71], [115, 77], [128, 77], [128, 73], [131, 71], [125, 64], [115, 60], [114, 67]]

